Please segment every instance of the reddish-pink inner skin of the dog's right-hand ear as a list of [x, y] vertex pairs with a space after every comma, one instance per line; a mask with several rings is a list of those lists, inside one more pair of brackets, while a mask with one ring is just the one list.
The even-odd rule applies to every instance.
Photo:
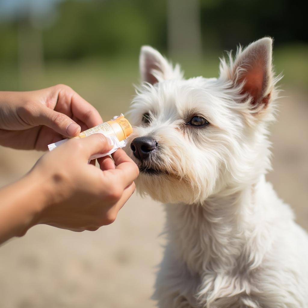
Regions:
[[243, 93], [247, 93], [252, 96], [252, 105], [255, 105], [261, 99], [264, 89], [264, 79], [265, 72], [263, 70], [261, 63], [251, 67], [242, 78], [239, 80], [242, 82], [245, 80], [245, 85], [243, 87]]

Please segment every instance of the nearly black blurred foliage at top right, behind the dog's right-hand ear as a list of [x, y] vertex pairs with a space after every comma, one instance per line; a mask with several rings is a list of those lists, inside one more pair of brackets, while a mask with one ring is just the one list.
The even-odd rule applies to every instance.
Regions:
[[210, 48], [211, 39], [229, 50], [264, 36], [273, 37], [277, 47], [307, 43], [305, 19], [306, 12], [296, 0], [201, 0], [203, 43]]

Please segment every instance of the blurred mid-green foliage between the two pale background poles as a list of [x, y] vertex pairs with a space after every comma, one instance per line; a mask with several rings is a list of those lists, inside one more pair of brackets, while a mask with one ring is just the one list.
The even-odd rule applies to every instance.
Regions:
[[159, 35], [164, 1], [67, 1], [60, 11], [58, 22], [44, 33], [47, 58], [131, 54], [141, 43], [165, 44]]

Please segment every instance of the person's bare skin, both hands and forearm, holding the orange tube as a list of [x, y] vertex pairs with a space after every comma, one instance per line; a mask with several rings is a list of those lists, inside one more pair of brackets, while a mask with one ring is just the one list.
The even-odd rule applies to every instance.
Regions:
[[[47, 144], [102, 123], [94, 107], [63, 85], [0, 92], [0, 144], [46, 149]], [[68, 129], [70, 124], [75, 129]], [[111, 146], [101, 134], [72, 139], [43, 155], [22, 179], [0, 189], [0, 243], [47, 224], [94, 231], [112, 223], [135, 190], [136, 164], [122, 150], [88, 164]]]

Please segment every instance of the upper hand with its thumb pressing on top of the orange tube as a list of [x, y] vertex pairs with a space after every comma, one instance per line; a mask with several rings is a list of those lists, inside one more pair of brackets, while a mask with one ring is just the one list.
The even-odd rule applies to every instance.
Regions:
[[0, 92], [0, 144], [47, 150], [102, 123], [98, 111], [66, 85], [38, 91]]

